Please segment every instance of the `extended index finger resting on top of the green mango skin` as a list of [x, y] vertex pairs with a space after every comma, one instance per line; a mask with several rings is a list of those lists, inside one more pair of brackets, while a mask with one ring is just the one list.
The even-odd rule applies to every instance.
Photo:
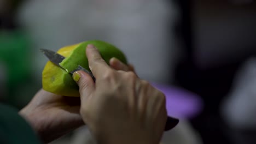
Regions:
[[96, 79], [98, 76], [102, 75], [104, 71], [110, 69], [94, 45], [89, 44], [86, 47], [86, 56], [88, 58], [89, 68]]

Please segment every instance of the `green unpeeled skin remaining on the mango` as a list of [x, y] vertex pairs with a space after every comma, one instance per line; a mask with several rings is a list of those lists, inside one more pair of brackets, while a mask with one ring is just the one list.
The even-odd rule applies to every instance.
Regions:
[[[126, 57], [123, 52], [121, 52], [117, 47], [115, 47], [112, 44], [106, 43], [104, 41], [100, 40], [90, 40], [90, 41], [84, 41], [83, 43], [80, 43], [72, 52], [71, 54], [66, 57], [60, 65], [66, 69], [61, 69], [61, 72], [55, 75], [56, 80], [53, 81], [53, 92], [55, 94], [63, 95], [63, 96], [69, 96], [69, 97], [79, 97], [79, 87], [77, 83], [72, 79], [72, 75], [68, 73], [69, 71], [73, 71], [77, 69], [78, 65], [81, 65], [83, 68], [90, 70], [88, 59], [85, 54], [86, 46], [88, 44], [93, 44], [98, 51], [100, 52], [102, 58], [106, 61], [106, 63], [109, 65], [109, 60], [112, 57], [118, 58], [121, 62], [124, 64], [127, 64]], [[46, 89], [47, 91], [47, 89]]]

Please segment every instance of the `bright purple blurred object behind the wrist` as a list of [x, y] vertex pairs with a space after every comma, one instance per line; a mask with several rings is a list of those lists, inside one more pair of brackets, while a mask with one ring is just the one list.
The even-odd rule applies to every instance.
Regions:
[[185, 89], [152, 83], [166, 95], [168, 116], [189, 119], [198, 115], [203, 107], [201, 98]]

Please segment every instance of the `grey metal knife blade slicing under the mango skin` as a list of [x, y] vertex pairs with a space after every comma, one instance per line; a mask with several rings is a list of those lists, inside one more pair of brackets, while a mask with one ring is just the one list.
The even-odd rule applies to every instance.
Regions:
[[67, 71], [68, 73], [72, 74], [75, 72], [75, 71], [78, 71], [78, 70], [83, 70], [85, 71], [85, 73], [89, 74], [91, 76], [91, 78], [95, 81], [95, 77], [94, 75], [91, 73], [91, 71], [83, 68], [81, 65], [78, 65], [77, 68], [75, 68], [73, 71], [68, 71], [67, 69], [63, 68], [60, 63], [63, 61], [63, 59], [65, 59], [66, 57], [60, 55], [59, 53], [57, 52], [54, 52], [54, 51], [51, 51], [51, 50], [47, 50], [47, 49], [40, 49], [40, 51], [42, 53], [44, 53], [44, 55], [46, 57], [48, 57], [48, 59], [54, 63], [55, 65], [57, 65], [58, 67], [60, 67], [61, 69]]

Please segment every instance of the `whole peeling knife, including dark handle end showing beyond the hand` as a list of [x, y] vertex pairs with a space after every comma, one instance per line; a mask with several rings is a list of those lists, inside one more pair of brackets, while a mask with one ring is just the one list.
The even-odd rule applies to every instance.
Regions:
[[[72, 74], [75, 72], [75, 71], [78, 71], [78, 70], [83, 70], [85, 71], [85, 73], [89, 74], [92, 79], [95, 81], [95, 77], [94, 75], [91, 73], [91, 71], [83, 68], [81, 65], [78, 65], [78, 67], [73, 70], [73, 71], [68, 71], [67, 69], [63, 68], [60, 63], [63, 61], [63, 59], [65, 59], [64, 56], [60, 55], [59, 53], [57, 52], [54, 52], [54, 51], [51, 51], [51, 50], [47, 50], [47, 49], [40, 49], [40, 51], [42, 53], [44, 53], [44, 55], [46, 57], [48, 57], [48, 59], [50, 60], [50, 62], [54, 63], [55, 65], [57, 65], [58, 67], [60, 67], [61, 69], [67, 71], [68, 73]], [[170, 130], [172, 128], [174, 128], [177, 124], [179, 123], [179, 119], [177, 118], [173, 118], [173, 117], [170, 117], [168, 116], [167, 117], [167, 121], [166, 121], [166, 124], [165, 124], [165, 131], [167, 130]]]

